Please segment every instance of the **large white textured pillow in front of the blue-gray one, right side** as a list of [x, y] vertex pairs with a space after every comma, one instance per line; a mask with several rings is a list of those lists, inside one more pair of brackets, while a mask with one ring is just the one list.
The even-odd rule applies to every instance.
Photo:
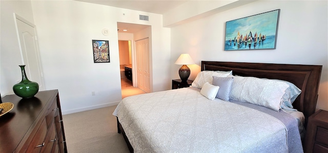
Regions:
[[282, 97], [289, 85], [282, 81], [235, 76], [230, 98], [280, 111]]

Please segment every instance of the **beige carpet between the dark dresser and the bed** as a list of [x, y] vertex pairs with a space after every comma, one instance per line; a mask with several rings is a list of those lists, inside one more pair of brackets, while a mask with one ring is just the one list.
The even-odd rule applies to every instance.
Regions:
[[129, 152], [117, 133], [115, 106], [63, 116], [67, 150], [78, 152]]

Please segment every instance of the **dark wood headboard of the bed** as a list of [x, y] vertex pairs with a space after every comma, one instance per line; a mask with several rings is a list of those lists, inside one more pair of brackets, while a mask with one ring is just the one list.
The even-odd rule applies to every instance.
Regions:
[[322, 65], [201, 61], [201, 71], [232, 70], [233, 75], [279, 79], [295, 84], [302, 93], [293, 106], [303, 112], [305, 125], [316, 110], [321, 69]]

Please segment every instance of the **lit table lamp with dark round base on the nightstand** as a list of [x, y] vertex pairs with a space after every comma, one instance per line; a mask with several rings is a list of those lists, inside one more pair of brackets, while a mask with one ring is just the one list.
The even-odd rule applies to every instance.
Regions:
[[186, 82], [190, 76], [190, 69], [187, 67], [187, 65], [195, 64], [195, 62], [191, 59], [189, 54], [181, 54], [175, 61], [175, 64], [182, 65], [182, 67], [179, 69], [179, 76], [181, 81]]

